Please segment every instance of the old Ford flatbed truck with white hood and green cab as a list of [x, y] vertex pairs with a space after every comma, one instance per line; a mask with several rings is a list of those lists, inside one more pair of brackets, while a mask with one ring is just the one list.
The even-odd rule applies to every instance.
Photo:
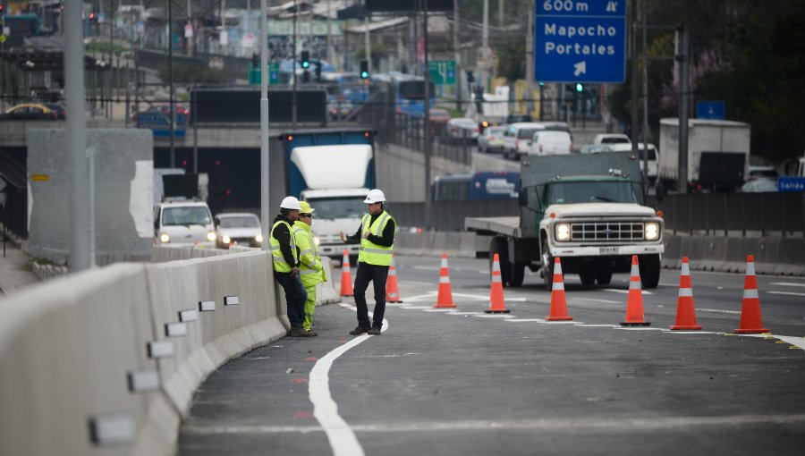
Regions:
[[550, 290], [555, 257], [582, 284], [607, 284], [637, 255], [643, 287], [656, 288], [663, 219], [641, 198], [631, 152], [529, 156], [521, 161], [520, 216], [467, 217], [464, 224], [492, 236], [489, 258], [499, 255], [504, 285], [521, 286], [529, 267]]

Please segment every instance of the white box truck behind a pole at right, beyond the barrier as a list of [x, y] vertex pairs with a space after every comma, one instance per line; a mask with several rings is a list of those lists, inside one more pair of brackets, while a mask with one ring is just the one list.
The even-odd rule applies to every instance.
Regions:
[[[749, 123], [688, 120], [688, 188], [729, 191], [741, 187], [749, 171]], [[679, 119], [660, 120], [658, 180], [665, 190], [679, 178]]]

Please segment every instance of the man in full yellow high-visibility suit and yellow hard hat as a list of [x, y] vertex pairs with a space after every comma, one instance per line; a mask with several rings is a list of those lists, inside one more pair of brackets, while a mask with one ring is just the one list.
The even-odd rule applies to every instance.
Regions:
[[316, 310], [316, 285], [326, 282], [327, 277], [316, 241], [313, 240], [313, 232], [310, 230], [313, 224], [313, 211], [316, 209], [310, 207], [307, 201], [300, 201], [299, 206], [301, 207], [299, 220], [294, 222], [291, 234], [299, 249], [299, 274], [302, 285], [308, 292], [308, 299], [305, 300], [305, 321], [302, 325], [305, 331], [310, 331], [313, 327], [313, 312]]

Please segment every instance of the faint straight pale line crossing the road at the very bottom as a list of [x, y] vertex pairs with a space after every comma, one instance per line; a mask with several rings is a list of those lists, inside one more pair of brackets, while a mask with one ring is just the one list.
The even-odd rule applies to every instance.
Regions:
[[[577, 430], [612, 429], [615, 431], [664, 430], [667, 428], [698, 429], [701, 426], [746, 426], [757, 424], [792, 425], [805, 423], [805, 414], [794, 415], [728, 415], [716, 417], [654, 417], [654, 418], [530, 418], [512, 420], [442, 420], [388, 421], [353, 426], [358, 432], [445, 432], [491, 431], [500, 429]], [[217, 434], [279, 434], [316, 432], [317, 426], [184, 426], [183, 432], [197, 435]]]

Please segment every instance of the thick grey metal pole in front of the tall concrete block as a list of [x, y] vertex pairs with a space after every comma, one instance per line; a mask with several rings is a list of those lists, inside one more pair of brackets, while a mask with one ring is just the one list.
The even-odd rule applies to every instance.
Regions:
[[64, 89], [67, 106], [67, 145], [70, 150], [70, 266], [89, 269], [89, 168], [84, 102], [84, 40], [80, 2], [64, 4]]

